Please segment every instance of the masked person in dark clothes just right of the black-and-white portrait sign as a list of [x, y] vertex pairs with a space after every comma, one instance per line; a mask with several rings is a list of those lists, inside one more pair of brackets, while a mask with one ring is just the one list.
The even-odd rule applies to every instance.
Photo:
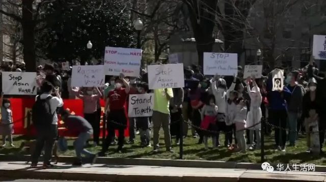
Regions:
[[297, 119], [302, 114], [302, 98], [304, 95], [304, 88], [299, 85], [296, 80], [299, 75], [298, 71], [292, 71], [288, 74], [285, 82], [288, 84], [287, 88], [291, 92], [291, 97], [287, 103], [288, 110], [288, 125], [289, 125], [289, 146], [295, 146]]

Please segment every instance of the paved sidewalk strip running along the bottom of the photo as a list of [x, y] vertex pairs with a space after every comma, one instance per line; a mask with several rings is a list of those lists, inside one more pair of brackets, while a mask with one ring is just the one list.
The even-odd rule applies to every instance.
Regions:
[[90, 181], [326, 181], [324, 172], [274, 172], [247, 169], [181, 168], [94, 164], [73, 167], [60, 163], [53, 169], [30, 169], [24, 162], [0, 162], [0, 176]]

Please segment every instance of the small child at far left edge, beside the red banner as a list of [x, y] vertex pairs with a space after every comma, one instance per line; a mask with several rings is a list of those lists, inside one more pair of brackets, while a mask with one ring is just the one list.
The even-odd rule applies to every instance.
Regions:
[[12, 147], [14, 144], [12, 142], [12, 134], [14, 133], [14, 123], [12, 120], [12, 111], [10, 108], [10, 100], [4, 99], [4, 93], [2, 93], [0, 98], [0, 103], [2, 103], [1, 107], [1, 116], [2, 119], [0, 121], [0, 135], [2, 135], [2, 147], [6, 147], [6, 137], [8, 136], [9, 143]]

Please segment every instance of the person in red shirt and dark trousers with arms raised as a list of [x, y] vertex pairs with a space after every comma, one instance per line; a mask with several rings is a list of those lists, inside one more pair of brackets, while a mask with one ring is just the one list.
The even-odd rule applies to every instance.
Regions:
[[[119, 131], [118, 152], [121, 152], [124, 143], [124, 130], [127, 126], [127, 116], [125, 113], [125, 103], [130, 92], [130, 86], [121, 73], [120, 77], [115, 79], [115, 89], [108, 92], [105, 102], [105, 112], [107, 115], [106, 129], [108, 136], [102, 147], [99, 156], [104, 156], [112, 139], [115, 137], [115, 130]], [[125, 88], [123, 88], [123, 85]]]

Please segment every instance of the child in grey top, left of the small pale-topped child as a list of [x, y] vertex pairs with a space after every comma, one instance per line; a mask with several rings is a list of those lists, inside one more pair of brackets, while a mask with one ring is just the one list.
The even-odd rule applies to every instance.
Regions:
[[[227, 105], [226, 105], [226, 127], [227, 129], [227, 141], [230, 145], [229, 150], [233, 150], [234, 148], [237, 148], [236, 144], [237, 144], [237, 140], [235, 137], [235, 116], [236, 116], [236, 112], [237, 112], [237, 99], [238, 99], [238, 92], [233, 90], [230, 92], [230, 96], [229, 99], [227, 101]], [[232, 134], [234, 134], [235, 137], [235, 145], [231, 145], [232, 144]]]

